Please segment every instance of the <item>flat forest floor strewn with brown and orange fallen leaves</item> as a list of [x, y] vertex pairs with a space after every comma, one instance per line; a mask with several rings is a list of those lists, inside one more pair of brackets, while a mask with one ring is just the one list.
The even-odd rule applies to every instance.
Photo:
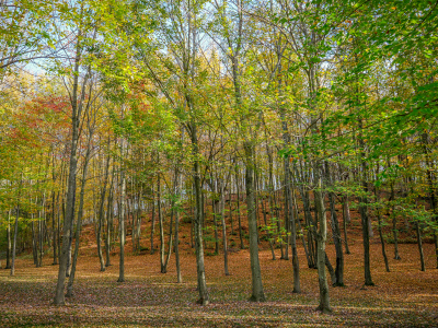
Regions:
[[[391, 272], [385, 272], [381, 245], [373, 237], [371, 273], [376, 285], [365, 288], [362, 243], [358, 233], [353, 234], [351, 254], [345, 255], [346, 286], [330, 288], [333, 314], [325, 315], [315, 311], [316, 270], [308, 268], [301, 243], [301, 293], [291, 292], [291, 260], [280, 260], [279, 249], [277, 260], [272, 260], [266, 244], [260, 257], [267, 302], [247, 301], [249, 250], [234, 248], [237, 251], [229, 255], [231, 276], [223, 274], [222, 254], [206, 256], [210, 304], [200, 306], [196, 304], [196, 259], [189, 232], [181, 239], [183, 283], [176, 283], [174, 255], [163, 274], [159, 253], [150, 255], [145, 249], [132, 255], [130, 241], [125, 257], [126, 282], [118, 283], [116, 251], [112, 266], [100, 272], [92, 226], [87, 229], [90, 238], [81, 242], [74, 295], [65, 306], [50, 305], [58, 266], [51, 265], [48, 255], [41, 268], [35, 268], [32, 255], [19, 257], [14, 277], [9, 270], [0, 270], [0, 327], [438, 327], [438, 270], [433, 244], [424, 245], [425, 272], [419, 270], [417, 245], [399, 245], [401, 260], [393, 259], [393, 245], [387, 245]], [[142, 244], [149, 243], [146, 233]], [[334, 265], [333, 244], [327, 245], [327, 254]]]

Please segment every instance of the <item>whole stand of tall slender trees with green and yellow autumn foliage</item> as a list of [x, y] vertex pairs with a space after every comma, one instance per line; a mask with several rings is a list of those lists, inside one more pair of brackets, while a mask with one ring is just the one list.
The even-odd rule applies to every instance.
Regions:
[[[374, 231], [388, 271], [384, 245], [400, 258], [401, 230], [422, 270], [422, 243], [435, 243], [438, 268], [437, 14], [426, 0], [1, 1], [0, 246], [11, 274], [19, 249], [32, 247], [36, 266], [50, 250], [64, 304], [91, 223], [101, 271], [117, 247], [125, 280], [129, 233], [134, 251], [159, 246], [163, 273], [174, 253], [181, 282], [178, 225], [191, 224], [200, 304], [211, 245], [224, 274], [230, 247], [249, 247], [251, 300], [264, 301], [267, 241], [273, 257], [275, 247], [291, 257], [297, 293], [303, 247], [330, 312], [325, 267], [344, 285], [350, 207], [366, 285]], [[228, 244], [230, 224], [239, 244]]]

